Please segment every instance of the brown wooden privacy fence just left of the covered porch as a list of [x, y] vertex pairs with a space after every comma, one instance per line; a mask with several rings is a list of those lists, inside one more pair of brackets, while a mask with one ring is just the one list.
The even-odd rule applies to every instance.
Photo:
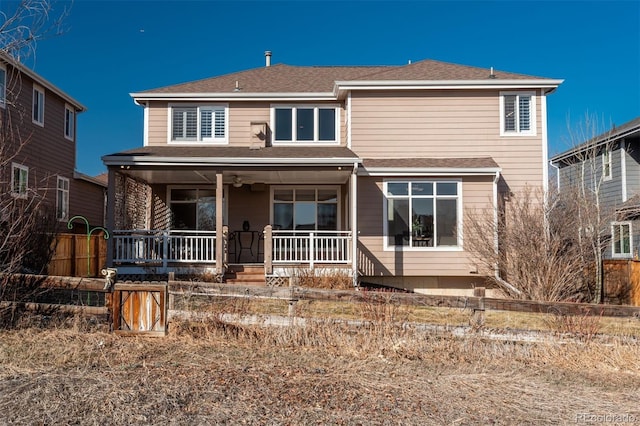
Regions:
[[59, 234], [47, 269], [49, 275], [100, 277], [100, 271], [107, 263], [107, 241], [98, 234], [91, 235], [88, 242], [87, 251], [86, 234]]

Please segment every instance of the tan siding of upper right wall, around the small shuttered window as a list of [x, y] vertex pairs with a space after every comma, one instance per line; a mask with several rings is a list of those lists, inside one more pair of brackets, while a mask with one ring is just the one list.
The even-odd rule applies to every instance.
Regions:
[[499, 91], [352, 94], [352, 149], [362, 158], [492, 157], [513, 190], [543, 179], [542, 101], [536, 135], [500, 136]]

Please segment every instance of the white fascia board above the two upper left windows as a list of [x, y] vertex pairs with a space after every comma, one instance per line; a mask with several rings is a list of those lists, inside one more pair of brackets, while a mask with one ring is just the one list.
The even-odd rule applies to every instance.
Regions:
[[332, 92], [317, 93], [129, 93], [135, 103], [153, 100], [221, 102], [221, 101], [335, 101]]

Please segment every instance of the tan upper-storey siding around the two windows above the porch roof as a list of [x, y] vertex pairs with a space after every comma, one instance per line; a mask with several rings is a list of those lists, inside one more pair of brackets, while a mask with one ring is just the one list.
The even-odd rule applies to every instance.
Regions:
[[[169, 129], [171, 127], [171, 117], [169, 116], [168, 105], [177, 105], [178, 102], [149, 102], [148, 106], [148, 145], [167, 145], [169, 142]], [[229, 146], [250, 146], [251, 145], [251, 123], [264, 122], [268, 128], [271, 126], [271, 105], [272, 102], [205, 102], [193, 103], [185, 102], [185, 105], [220, 105], [229, 106]], [[283, 103], [284, 104], [284, 103]], [[292, 103], [286, 103], [291, 105]], [[294, 103], [300, 105], [299, 103]], [[318, 105], [318, 103], [313, 103]], [[331, 103], [335, 105], [335, 102]], [[344, 107], [340, 107], [340, 141], [341, 145], [346, 145], [346, 113]], [[193, 142], [191, 145], [198, 145]], [[202, 143], [204, 144], [204, 143]]]

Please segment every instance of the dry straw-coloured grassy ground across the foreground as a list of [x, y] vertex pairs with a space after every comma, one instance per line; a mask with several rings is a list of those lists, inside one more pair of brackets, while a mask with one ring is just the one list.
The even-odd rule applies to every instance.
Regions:
[[640, 424], [634, 338], [516, 343], [219, 320], [0, 331], [0, 424]]

